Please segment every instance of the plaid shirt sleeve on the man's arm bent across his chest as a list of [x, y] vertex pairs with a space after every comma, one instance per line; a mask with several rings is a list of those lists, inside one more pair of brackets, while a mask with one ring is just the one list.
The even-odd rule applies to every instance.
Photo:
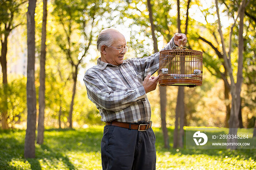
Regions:
[[99, 107], [119, 111], [136, 102], [146, 91], [143, 85], [113, 91], [98, 74], [85, 74], [84, 83], [89, 99]]

